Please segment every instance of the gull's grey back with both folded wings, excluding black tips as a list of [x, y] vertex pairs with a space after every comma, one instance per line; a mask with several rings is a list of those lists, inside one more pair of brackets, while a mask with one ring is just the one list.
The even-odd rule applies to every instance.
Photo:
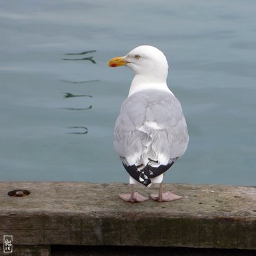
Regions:
[[188, 129], [172, 93], [134, 93], [122, 104], [114, 129], [114, 147], [129, 165], [151, 160], [167, 165], [188, 146]]

